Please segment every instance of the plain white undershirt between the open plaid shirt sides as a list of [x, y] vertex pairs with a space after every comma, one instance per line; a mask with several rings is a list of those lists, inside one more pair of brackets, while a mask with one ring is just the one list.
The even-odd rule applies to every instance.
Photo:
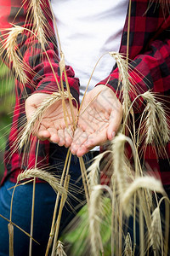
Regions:
[[[80, 101], [99, 57], [119, 51], [128, 0], [52, 0], [65, 63], [80, 79]], [[88, 90], [105, 79], [115, 61], [105, 55], [97, 66]]]

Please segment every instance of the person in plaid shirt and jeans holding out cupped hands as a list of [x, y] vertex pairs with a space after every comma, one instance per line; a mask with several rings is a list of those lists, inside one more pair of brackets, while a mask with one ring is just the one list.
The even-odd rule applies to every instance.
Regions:
[[[170, 39], [167, 31], [170, 25], [170, 17], [168, 8], [162, 9], [161, 4], [157, 5], [156, 2], [150, 3], [147, 0], [142, 2], [133, 0], [130, 2], [131, 12], [130, 18], [128, 19], [126, 16], [128, 15], [128, 1], [124, 0], [116, 1], [116, 3], [112, 2], [113, 1], [108, 1], [106, 4], [103, 3], [103, 1], [93, 1], [93, 3], [90, 1], [83, 1], [81, 6], [78, 5], [78, 7], [76, 0], [66, 3], [63, 3], [63, 1], [52, 1], [51, 3], [54, 10], [55, 19], [59, 26], [61, 45], [64, 45], [65, 47], [64, 52], [68, 47], [68, 52], [65, 54], [65, 63], [66, 65], [70, 65], [71, 60], [74, 63], [73, 66], [76, 75], [71, 66], [65, 67], [71, 95], [75, 98], [75, 101], [73, 102], [74, 113], [77, 113], [76, 102], [79, 102], [79, 85], [82, 100], [84, 87], [87, 84], [87, 79], [89, 78], [91, 72], [91, 67], [88, 69], [88, 73], [86, 72], [86, 67], [88, 64], [85, 61], [87, 59], [87, 55], [88, 63], [91, 63], [94, 55], [96, 55], [98, 58], [107, 51], [119, 50], [120, 53], [127, 54], [127, 24], [129, 19], [130, 33], [128, 42], [128, 58], [130, 60], [129, 62], [131, 67], [129, 74], [132, 78], [131, 82], [133, 83], [133, 90], [129, 91], [131, 102], [133, 102], [133, 100], [140, 93], [147, 90], [152, 90], [156, 93], [159, 92], [161, 96], [169, 95], [168, 80], [170, 76]], [[50, 7], [48, 1], [44, 1], [44, 3], [42, 3], [41, 6], [37, 6], [37, 8], [41, 8], [43, 15], [45, 15], [45, 18], [42, 16], [42, 24], [44, 24], [42, 31], [45, 31], [46, 34], [47, 44], [44, 45], [51, 62], [50, 64], [44, 49], [41, 49], [37, 37], [27, 30], [31, 29], [38, 32], [38, 28], [35, 28], [35, 26], [32, 24], [32, 22], [37, 19], [37, 12], [34, 12], [36, 7], [32, 5], [32, 9], [29, 9], [31, 1], [26, 1], [23, 4], [20, 0], [14, 1], [14, 3], [13, 1], [8, 1], [6, 5], [4, 5], [3, 1], [0, 3], [2, 40], [3, 38], [7, 37], [7, 35], [5, 35], [6, 31], [3, 29], [12, 27], [10, 22], [26, 28], [22, 35], [18, 35], [17, 45], [15, 47], [17, 51], [20, 49], [20, 58], [22, 59], [22, 64], [24, 65], [26, 73], [26, 83], [24, 85], [21, 82], [22, 79], [20, 79], [20, 74], [16, 73], [16, 106], [14, 109], [13, 125], [7, 143], [7, 151], [5, 155], [5, 173], [0, 192], [0, 213], [9, 218], [11, 195], [7, 194], [7, 189], [16, 182], [16, 178], [20, 173], [20, 170], [33, 168], [37, 163], [38, 168], [47, 165], [53, 167], [58, 165], [61, 166], [60, 171], [62, 171], [62, 165], [67, 152], [67, 149], [65, 148], [69, 147], [71, 149], [71, 153], [77, 155], [77, 157], [89, 152], [87, 156], [88, 160], [93, 158], [94, 154], [98, 153], [93, 153], [93, 151], [89, 150], [97, 145], [111, 140], [121, 125], [122, 93], [120, 92], [118, 86], [118, 69], [117, 67], [113, 67], [113, 62], [106, 60], [103, 66], [101, 64], [101, 67], [99, 67], [99, 73], [92, 81], [88, 94], [85, 97], [85, 100], [82, 102], [82, 108], [79, 114], [76, 131], [73, 132], [72, 119], [68, 123], [69, 130], [65, 129], [61, 101], [56, 102], [48, 109], [48, 112], [43, 117], [39, 130], [36, 131], [37, 137], [31, 137], [31, 150], [26, 153], [25, 160], [23, 161], [24, 152], [19, 154], [16, 150], [14, 150], [14, 142], [20, 133], [20, 119], [25, 117], [27, 117], [27, 119], [31, 119], [31, 114], [35, 111], [35, 109], [37, 109], [37, 106], [39, 106], [42, 100], [46, 98], [48, 94], [58, 90], [54, 73], [50, 65], [52, 65], [54, 68], [54, 72], [60, 84], [58, 54], [60, 49], [57, 49], [56, 46], [57, 44], [59, 45], [59, 38], [57, 38], [58, 42], [56, 44]], [[66, 7], [68, 8], [67, 10], [65, 10]], [[64, 22], [65, 15], [68, 17], [66, 22]], [[115, 25], [117, 24], [116, 15], [121, 16], [118, 22], [120, 23], [120, 26]], [[92, 26], [93, 23], [97, 24], [98, 29], [96, 29], [95, 26]], [[82, 25], [85, 26], [85, 24], [87, 24], [87, 26], [84, 27], [82, 31]], [[68, 32], [69, 35], [67, 37]], [[87, 34], [85, 32], [87, 32]], [[101, 37], [99, 37], [99, 35]], [[71, 51], [75, 49], [74, 45], [76, 43], [72, 39], [73, 41], [71, 40], [71, 42], [73, 42], [73, 45], [71, 45], [71, 42], [67, 41], [69, 40], [69, 37], [75, 38], [77, 45], [81, 45], [80, 49], [77, 49], [76, 47], [77, 50], [74, 51], [73, 54]], [[100, 40], [102, 40], [102, 38], [104, 38], [104, 41], [99, 45], [99, 49], [96, 49], [98, 53], [95, 52], [94, 55], [91, 55], [91, 53], [87, 53], [87, 50], [88, 48], [93, 48], [92, 42], [94, 42], [93, 40], [95, 40], [95, 38], [98, 39], [98, 43]], [[98, 45], [98, 43], [94, 44], [94, 50], [97, 48], [96, 45]], [[90, 45], [90, 47], [87, 47], [85, 54], [82, 55], [86, 45]], [[6, 52], [5, 44], [3, 44], [3, 49], [4, 55]], [[60, 51], [59, 53], [62, 56], [62, 52]], [[100, 55], [98, 55], [99, 53]], [[73, 58], [75, 60], [73, 60]], [[79, 63], [82, 64], [82, 67], [79, 67]], [[94, 63], [92, 65], [94, 66]], [[105, 69], [104, 73], [103, 69]], [[104, 79], [100, 77], [100, 72], [102, 72]], [[82, 77], [79, 77], [79, 80], [77, 79], [77, 76]], [[65, 88], [65, 78], [62, 79], [64, 81]], [[98, 86], [93, 87], [95, 84]], [[67, 101], [65, 104], [68, 113], [71, 113], [70, 104]], [[137, 118], [138, 115], [143, 112], [143, 107], [143, 103], [140, 100], [136, 101], [133, 105], [133, 111], [136, 113]], [[53, 122], [51, 121], [52, 119]], [[37, 138], [40, 139], [38, 149]], [[58, 146], [55, 143], [57, 143]], [[168, 156], [169, 148], [169, 144], [167, 144]], [[95, 150], [98, 151], [99, 148], [95, 148]], [[14, 151], [14, 154], [9, 155], [12, 151]], [[37, 158], [35, 157], [36, 154]], [[160, 173], [162, 183], [169, 188], [170, 176], [168, 160], [161, 159], [158, 163], [156, 153], [152, 152], [152, 154], [150, 154], [150, 150], [148, 150], [148, 148], [145, 151], [144, 160], [145, 164], [147, 164], [146, 166], [150, 166], [152, 169]], [[77, 167], [75, 167], [75, 165]], [[73, 184], [77, 184], [77, 177], [80, 177], [80, 167], [79, 164], [77, 164], [77, 158], [74, 156], [72, 156], [71, 168], [71, 179], [73, 180]], [[75, 168], [77, 168], [77, 172], [75, 172]], [[81, 183], [78, 184], [78, 186], [80, 187]], [[43, 255], [48, 241], [48, 233], [54, 210], [55, 195], [52, 189], [50, 189], [46, 183], [38, 183], [36, 188], [38, 189], [37, 200], [39, 203], [35, 211], [37, 216], [35, 216], [33, 237], [37, 239], [37, 241], [40, 241], [41, 246], [38, 247], [36, 243], [33, 243], [32, 255]], [[31, 200], [26, 200], [26, 205], [28, 205], [28, 208], [26, 208], [25, 205], [17, 205], [17, 202], [19, 201], [19, 197], [26, 198], [27, 195], [30, 195], [31, 197], [31, 185], [28, 184], [23, 186], [22, 190], [23, 191], [21, 192], [20, 189], [18, 194], [15, 195], [16, 201], [14, 201], [13, 207], [13, 221], [17, 224], [18, 220], [20, 219], [18, 224], [20, 224], [24, 230], [29, 232], [30, 216], [28, 216], [26, 213], [28, 212], [28, 209], [31, 208]], [[83, 200], [83, 195], [81, 195], [81, 193], [77, 193], [77, 197]], [[46, 201], [46, 205], [42, 199]], [[5, 203], [6, 201], [8, 201], [8, 203]], [[30, 202], [28, 203], [28, 201]], [[6, 207], [5, 204], [7, 205]], [[74, 202], [71, 201], [71, 204], [73, 204], [73, 207], [76, 207], [78, 203], [76, 202], [74, 205]], [[6, 210], [4, 211], [4, 209]], [[69, 211], [66, 210], [67, 209], [65, 209], [63, 219], [61, 220], [61, 230], [72, 218], [72, 214], [68, 213], [71, 212], [71, 209]], [[18, 215], [17, 212], [20, 212], [21, 214]], [[23, 224], [21, 224], [21, 219]], [[2, 232], [3, 237], [0, 237], [0, 250], [3, 250], [2, 255], [8, 255], [7, 223], [3, 219], [0, 219], [0, 222], [0, 226], [2, 227], [1, 229], [5, 230]], [[18, 230], [15, 232], [18, 233], [16, 236], [14, 236], [14, 253], [16, 253], [16, 255], [26, 255], [29, 247], [29, 239], [24, 237], [23, 234], [20, 234], [19, 236]]]

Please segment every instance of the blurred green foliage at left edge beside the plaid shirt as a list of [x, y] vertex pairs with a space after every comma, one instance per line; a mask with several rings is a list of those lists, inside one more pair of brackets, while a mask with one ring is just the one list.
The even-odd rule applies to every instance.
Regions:
[[0, 180], [3, 176], [3, 154], [14, 110], [14, 78], [0, 62]]

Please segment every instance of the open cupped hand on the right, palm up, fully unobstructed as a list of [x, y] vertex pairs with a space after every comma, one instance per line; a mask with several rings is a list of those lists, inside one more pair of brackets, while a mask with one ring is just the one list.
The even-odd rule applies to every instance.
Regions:
[[82, 102], [71, 153], [82, 156], [91, 148], [111, 140], [122, 122], [122, 104], [111, 88], [98, 85]]

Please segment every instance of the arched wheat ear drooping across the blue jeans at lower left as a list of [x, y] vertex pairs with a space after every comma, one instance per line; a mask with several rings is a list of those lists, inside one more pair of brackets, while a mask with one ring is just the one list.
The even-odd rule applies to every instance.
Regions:
[[59, 184], [59, 180], [56, 177], [54, 177], [49, 172], [38, 170], [37, 168], [26, 170], [25, 172], [21, 172], [17, 177], [17, 182], [20, 182], [21, 180], [30, 178], [30, 177], [39, 177], [42, 180], [45, 180], [54, 189], [56, 194], [58, 192], [59, 194], [63, 194], [63, 195], [67, 194], [66, 190]]

